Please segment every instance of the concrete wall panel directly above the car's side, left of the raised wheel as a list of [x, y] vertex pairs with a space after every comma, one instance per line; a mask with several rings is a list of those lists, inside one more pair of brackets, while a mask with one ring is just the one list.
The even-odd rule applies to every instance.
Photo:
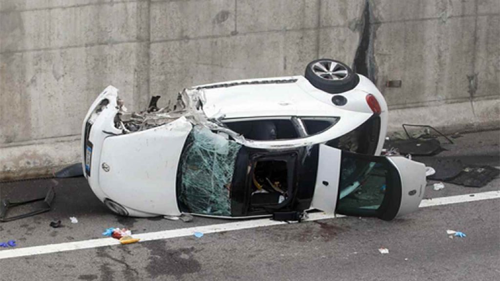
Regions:
[[159, 42], [151, 54], [151, 94], [174, 98], [196, 84], [301, 74], [316, 56], [316, 31]]

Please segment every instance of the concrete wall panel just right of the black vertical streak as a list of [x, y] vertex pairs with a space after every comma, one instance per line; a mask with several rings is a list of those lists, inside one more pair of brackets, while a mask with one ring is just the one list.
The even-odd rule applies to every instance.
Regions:
[[[374, 61], [377, 86], [392, 106], [466, 99], [473, 72], [474, 18], [377, 24]], [[402, 80], [386, 88], [387, 80]]]

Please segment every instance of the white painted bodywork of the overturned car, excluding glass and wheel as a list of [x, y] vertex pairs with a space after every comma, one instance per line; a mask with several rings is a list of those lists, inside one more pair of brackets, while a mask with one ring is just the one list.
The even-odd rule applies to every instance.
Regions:
[[[362, 75], [354, 88], [340, 94], [347, 103], [342, 106], [332, 104], [332, 94], [317, 89], [303, 76], [195, 86], [183, 91], [185, 115], [158, 126], [125, 133], [124, 128], [118, 128], [114, 122], [121, 110], [117, 101], [118, 90], [108, 86], [92, 103], [83, 122], [82, 168], [95, 195], [115, 212], [130, 216], [180, 215], [188, 211], [182, 210], [178, 202], [179, 161], [193, 127], [203, 126], [238, 145], [269, 153], [316, 147], [319, 152], [314, 152], [318, 154], [317, 164], [314, 164], [317, 167], [313, 167], [317, 169], [315, 184], [307, 187], [314, 190], [306, 209], [334, 212], [339, 196], [341, 157], [346, 152], [325, 144], [376, 117], [376, 146], [367, 153], [371, 156], [363, 157], [391, 164], [390, 169], [397, 170], [401, 179], [397, 183], [397, 188], [401, 189], [398, 191], [400, 201], [393, 203], [396, 209], [388, 219], [415, 210], [425, 187], [424, 165], [402, 156], [377, 156], [383, 146], [387, 124], [387, 105], [382, 94]], [[367, 95], [378, 101], [380, 112], [373, 112], [366, 102]], [[333, 125], [307, 134], [302, 119], [330, 117], [336, 120]], [[260, 119], [293, 119], [300, 135], [290, 139], [251, 140], [217, 124]], [[236, 215], [239, 216], [252, 214]]]

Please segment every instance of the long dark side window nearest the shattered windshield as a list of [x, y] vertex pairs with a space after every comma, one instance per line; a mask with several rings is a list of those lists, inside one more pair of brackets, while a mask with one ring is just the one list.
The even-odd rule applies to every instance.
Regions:
[[299, 137], [291, 119], [224, 121], [224, 124], [247, 139], [275, 140]]

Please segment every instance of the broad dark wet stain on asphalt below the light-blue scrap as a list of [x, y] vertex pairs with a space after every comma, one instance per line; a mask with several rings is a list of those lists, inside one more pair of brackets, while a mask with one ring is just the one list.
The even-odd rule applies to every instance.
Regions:
[[166, 241], [150, 241], [141, 245], [149, 249], [146, 270], [151, 278], [162, 275], [180, 277], [201, 270], [201, 264], [193, 257], [194, 247], [168, 249]]

